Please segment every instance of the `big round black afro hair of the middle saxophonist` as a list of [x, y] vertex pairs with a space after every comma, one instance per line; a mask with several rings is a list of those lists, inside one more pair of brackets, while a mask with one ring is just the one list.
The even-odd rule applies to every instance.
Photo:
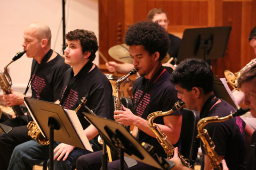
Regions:
[[149, 55], [159, 52], [159, 61], [163, 60], [169, 48], [168, 33], [161, 25], [151, 21], [137, 22], [126, 31], [124, 43], [128, 46], [143, 46]]

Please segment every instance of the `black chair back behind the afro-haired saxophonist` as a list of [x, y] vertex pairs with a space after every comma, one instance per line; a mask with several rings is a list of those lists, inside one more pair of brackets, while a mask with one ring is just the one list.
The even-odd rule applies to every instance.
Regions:
[[197, 152], [199, 148], [199, 139], [197, 135], [197, 122], [199, 120], [199, 113], [197, 111], [191, 111], [184, 108], [182, 115], [181, 125], [181, 154], [189, 160], [188, 163], [194, 168]]

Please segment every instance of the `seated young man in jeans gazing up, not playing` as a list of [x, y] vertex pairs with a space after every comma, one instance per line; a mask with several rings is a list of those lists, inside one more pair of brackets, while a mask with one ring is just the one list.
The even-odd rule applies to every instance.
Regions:
[[[92, 63], [98, 50], [97, 38], [92, 31], [76, 29], [65, 36], [65, 63], [72, 66], [65, 73], [63, 94], [60, 104], [63, 108], [75, 109], [82, 97], [89, 95], [86, 106], [101, 117], [113, 118], [110, 111], [112, 89], [110, 82], [99, 68]], [[87, 112], [81, 107], [77, 112], [84, 132], [94, 151], [101, 150], [98, 143], [98, 130], [87, 122], [82, 114]], [[65, 143], [54, 142], [54, 169], [69, 169], [75, 166], [76, 159], [91, 151], [76, 148]], [[33, 165], [49, 159], [49, 146], [39, 145], [35, 140], [15, 147], [9, 169], [33, 169]]]

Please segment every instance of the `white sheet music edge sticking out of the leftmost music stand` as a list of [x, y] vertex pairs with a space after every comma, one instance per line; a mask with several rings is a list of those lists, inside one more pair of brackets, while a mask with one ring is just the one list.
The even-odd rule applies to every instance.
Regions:
[[87, 149], [87, 150], [90, 150], [93, 152], [92, 150], [92, 147], [90, 145], [90, 142], [89, 140], [87, 139], [86, 135], [85, 135], [85, 132], [83, 130], [83, 127], [76, 115], [76, 112], [75, 111], [71, 111], [69, 109], [65, 109], [65, 112], [67, 113], [68, 117], [69, 117], [69, 120], [72, 122], [77, 134], [78, 134], [78, 137], [81, 139], [81, 141], [83, 142], [83, 145], [84, 147]]

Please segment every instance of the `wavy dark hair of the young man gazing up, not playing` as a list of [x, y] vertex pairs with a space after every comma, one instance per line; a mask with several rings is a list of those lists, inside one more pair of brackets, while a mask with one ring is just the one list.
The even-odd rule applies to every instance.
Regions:
[[65, 38], [67, 40], [79, 40], [82, 46], [82, 52], [91, 52], [89, 59], [93, 61], [95, 59], [95, 53], [99, 49], [97, 37], [94, 32], [84, 29], [76, 29], [74, 31], [69, 31]]

